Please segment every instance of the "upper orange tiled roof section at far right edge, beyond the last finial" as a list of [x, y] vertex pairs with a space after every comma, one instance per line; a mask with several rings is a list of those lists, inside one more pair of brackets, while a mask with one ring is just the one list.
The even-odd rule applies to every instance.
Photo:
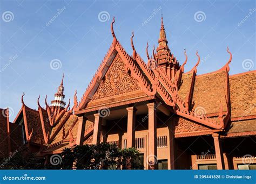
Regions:
[[231, 117], [256, 115], [256, 72], [230, 76]]

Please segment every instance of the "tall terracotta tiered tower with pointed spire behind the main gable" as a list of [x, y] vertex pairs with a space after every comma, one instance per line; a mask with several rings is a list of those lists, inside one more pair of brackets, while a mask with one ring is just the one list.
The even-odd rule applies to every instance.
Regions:
[[162, 68], [171, 79], [173, 79], [177, 73], [177, 70], [180, 68], [180, 66], [179, 66], [179, 62], [173, 56], [167, 44], [168, 44], [168, 41], [166, 39], [166, 33], [164, 29], [164, 20], [163, 20], [163, 14], [162, 14], [156, 59], [157, 59], [158, 66]]

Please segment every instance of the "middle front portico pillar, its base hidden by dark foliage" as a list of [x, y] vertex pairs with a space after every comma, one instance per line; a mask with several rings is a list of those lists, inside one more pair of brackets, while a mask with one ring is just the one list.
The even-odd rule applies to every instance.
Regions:
[[134, 147], [134, 141], [135, 141], [135, 112], [136, 108], [129, 107], [126, 108], [128, 115], [127, 115], [127, 148]]

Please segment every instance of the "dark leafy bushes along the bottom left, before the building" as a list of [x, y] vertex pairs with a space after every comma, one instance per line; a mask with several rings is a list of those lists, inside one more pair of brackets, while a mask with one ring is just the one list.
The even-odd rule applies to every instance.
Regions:
[[13, 157], [0, 160], [1, 169], [143, 169], [138, 164], [136, 148], [120, 149], [115, 145], [100, 143], [65, 148], [58, 165], [45, 165], [44, 158], [31, 153], [18, 152]]

